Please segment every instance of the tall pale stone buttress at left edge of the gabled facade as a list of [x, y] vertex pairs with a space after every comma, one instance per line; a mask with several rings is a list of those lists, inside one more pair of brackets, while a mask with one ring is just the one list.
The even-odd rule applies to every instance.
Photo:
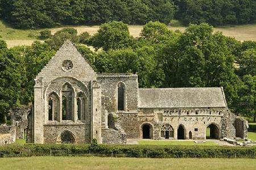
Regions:
[[32, 131], [34, 143], [43, 143], [43, 124], [44, 124], [44, 111], [43, 111], [43, 97], [42, 97], [42, 85], [38, 79], [35, 79], [34, 86], [34, 112], [32, 113]]

